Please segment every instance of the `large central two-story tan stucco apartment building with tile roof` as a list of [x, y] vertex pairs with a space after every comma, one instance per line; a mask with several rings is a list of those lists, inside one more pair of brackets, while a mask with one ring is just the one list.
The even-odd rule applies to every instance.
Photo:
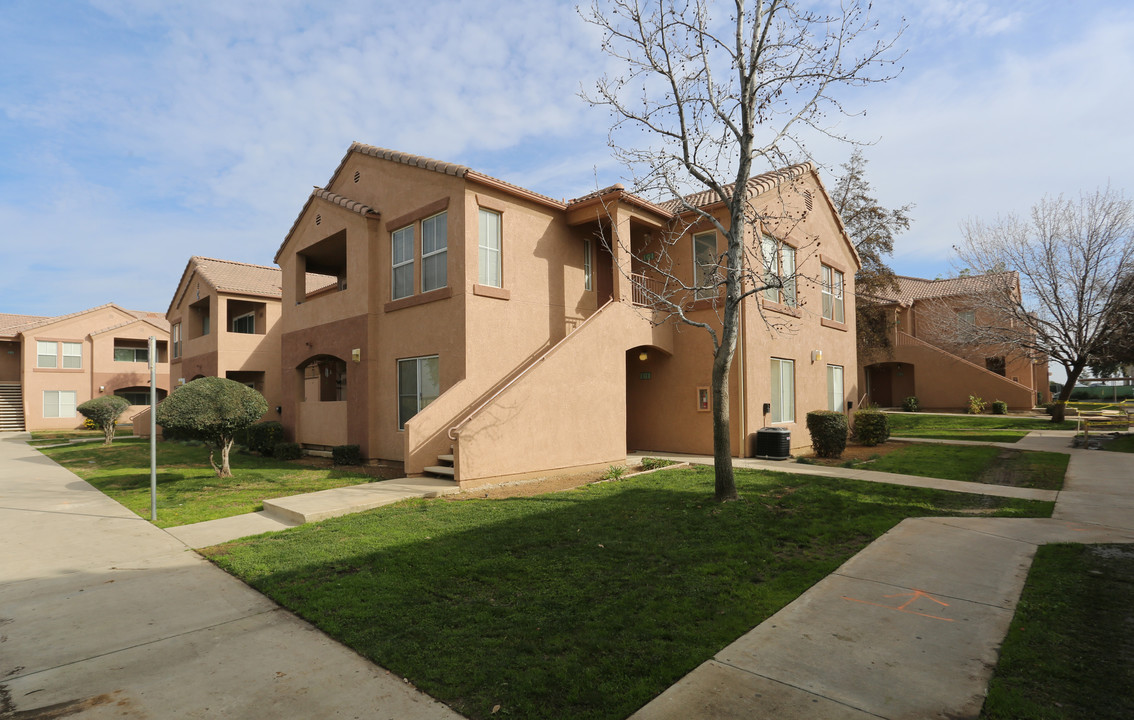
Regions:
[[[807, 446], [806, 412], [845, 410], [857, 392], [844, 297], [858, 260], [816, 171], [795, 166], [750, 188], [752, 203], [795, 220], [748, 238], [790, 279], [743, 300], [729, 395], [743, 456], [764, 425]], [[727, 217], [705, 194], [689, 200]], [[621, 186], [559, 201], [352, 145], [276, 254], [288, 434], [308, 448], [358, 444], [407, 474], [451, 466], [440, 472], [464, 486], [606, 467], [628, 450], [711, 452], [709, 336], [645, 302], [661, 280], [643, 263], [670, 234], [688, 285], [725, 249], [676, 201]], [[688, 315], [717, 323], [720, 298], [700, 295]], [[211, 322], [231, 320], [209, 304]]]

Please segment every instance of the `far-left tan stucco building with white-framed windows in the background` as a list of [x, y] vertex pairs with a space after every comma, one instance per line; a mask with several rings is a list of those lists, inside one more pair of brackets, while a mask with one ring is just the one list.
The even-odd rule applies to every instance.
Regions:
[[0, 313], [0, 430], [79, 427], [76, 407], [119, 395], [128, 422], [150, 404], [149, 338], [158, 347], [158, 398], [169, 391], [169, 327], [160, 313], [100, 305], [45, 317]]

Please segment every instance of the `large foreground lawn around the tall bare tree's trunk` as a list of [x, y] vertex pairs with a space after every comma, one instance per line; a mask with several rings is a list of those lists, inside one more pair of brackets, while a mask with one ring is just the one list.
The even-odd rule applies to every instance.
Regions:
[[[469, 718], [626, 718], [896, 523], [1052, 503], [665, 469], [505, 500], [409, 500], [208, 549]], [[493, 706], [500, 705], [493, 713]]]

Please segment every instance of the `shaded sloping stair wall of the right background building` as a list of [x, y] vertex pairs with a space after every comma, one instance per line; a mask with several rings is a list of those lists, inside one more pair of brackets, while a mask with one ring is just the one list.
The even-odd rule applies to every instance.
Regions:
[[[964, 407], [968, 396], [1002, 400], [1012, 409], [1031, 409], [1035, 393], [985, 367], [971, 363], [908, 333], [899, 332], [892, 362], [914, 366], [914, 388], [922, 407]], [[928, 369], [938, 369], [929, 374]], [[895, 403], [900, 403], [895, 398]]]

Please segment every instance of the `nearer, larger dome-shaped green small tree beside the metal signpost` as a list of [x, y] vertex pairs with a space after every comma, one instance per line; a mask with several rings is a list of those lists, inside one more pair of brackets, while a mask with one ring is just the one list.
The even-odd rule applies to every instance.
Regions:
[[[236, 434], [268, 412], [264, 396], [225, 378], [198, 378], [174, 390], [158, 406], [158, 424], [209, 444], [209, 465], [217, 477], [231, 477], [229, 451]], [[220, 466], [213, 451], [220, 450]]]

